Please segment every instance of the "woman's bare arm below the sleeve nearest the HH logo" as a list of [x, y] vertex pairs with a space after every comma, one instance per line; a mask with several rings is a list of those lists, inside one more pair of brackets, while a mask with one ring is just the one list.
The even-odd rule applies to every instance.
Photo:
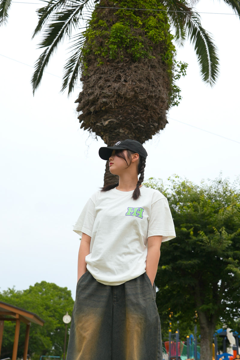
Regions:
[[148, 255], [146, 260], [146, 273], [153, 285], [158, 270], [158, 262], [160, 258], [160, 247], [162, 244], [162, 236], [150, 236], [148, 238]]

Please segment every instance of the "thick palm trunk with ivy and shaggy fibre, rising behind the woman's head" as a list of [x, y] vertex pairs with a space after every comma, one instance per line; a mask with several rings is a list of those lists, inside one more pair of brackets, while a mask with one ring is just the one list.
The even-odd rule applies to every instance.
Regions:
[[[108, 146], [125, 139], [144, 143], [167, 123], [174, 56], [168, 18], [165, 12], [160, 16], [154, 11], [132, 10], [125, 22], [124, 12], [114, 9], [115, 3], [103, 0], [101, 5], [108, 8], [94, 10], [85, 35], [83, 87], [76, 100], [77, 111], [81, 112], [78, 119], [81, 128], [94, 132]], [[136, 23], [136, 18], [141, 21]], [[154, 28], [152, 18], [156, 20]], [[119, 29], [127, 29], [128, 42], [123, 30], [113, 36], [116, 24]], [[147, 24], [151, 24], [151, 31]], [[152, 37], [153, 30], [161, 34], [158, 40]], [[118, 48], [115, 55], [109, 47], [105, 49], [106, 43], [112, 44], [109, 39]], [[116, 182], [107, 165], [104, 185]]]

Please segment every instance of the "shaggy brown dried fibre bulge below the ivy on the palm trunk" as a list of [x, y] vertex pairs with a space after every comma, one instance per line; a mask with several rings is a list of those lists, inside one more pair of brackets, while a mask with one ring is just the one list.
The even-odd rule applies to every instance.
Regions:
[[81, 127], [106, 144], [119, 136], [143, 143], [167, 123], [168, 91], [169, 80], [157, 59], [92, 64], [77, 99]]

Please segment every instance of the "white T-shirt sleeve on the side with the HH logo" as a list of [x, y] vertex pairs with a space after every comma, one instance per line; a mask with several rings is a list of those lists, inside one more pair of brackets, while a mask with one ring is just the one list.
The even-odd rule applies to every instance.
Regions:
[[172, 214], [165, 197], [151, 204], [148, 238], [157, 235], [163, 237], [163, 242], [176, 237]]

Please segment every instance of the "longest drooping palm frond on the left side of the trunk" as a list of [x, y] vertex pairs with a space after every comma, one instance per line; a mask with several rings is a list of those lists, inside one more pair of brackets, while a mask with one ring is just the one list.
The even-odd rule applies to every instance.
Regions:
[[40, 85], [42, 74], [47, 66], [51, 55], [65, 36], [71, 36], [72, 27], [76, 29], [83, 9], [83, 4], [69, 3], [61, 12], [52, 15], [52, 21], [47, 25], [43, 39], [39, 47], [46, 48], [35, 64], [35, 72], [32, 76], [33, 94]]

